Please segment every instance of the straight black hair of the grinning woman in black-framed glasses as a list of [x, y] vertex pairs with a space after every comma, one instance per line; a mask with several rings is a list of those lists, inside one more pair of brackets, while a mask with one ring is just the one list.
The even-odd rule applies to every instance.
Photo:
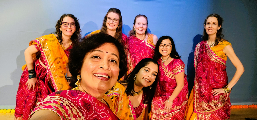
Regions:
[[160, 47], [160, 44], [163, 40], [165, 39], [169, 39], [171, 41], [171, 53], [170, 53], [170, 57], [171, 58], [181, 58], [181, 56], [178, 55], [178, 52], [176, 51], [176, 48], [175, 48], [175, 44], [174, 44], [174, 41], [173, 39], [170, 37], [170, 36], [162, 36], [161, 38], [159, 38], [159, 40], [157, 41], [156, 43], [156, 47], [154, 49], [154, 56], [153, 56], [153, 59], [155, 60], [159, 60], [159, 58], [161, 57], [161, 53], [159, 52], [159, 47]]

